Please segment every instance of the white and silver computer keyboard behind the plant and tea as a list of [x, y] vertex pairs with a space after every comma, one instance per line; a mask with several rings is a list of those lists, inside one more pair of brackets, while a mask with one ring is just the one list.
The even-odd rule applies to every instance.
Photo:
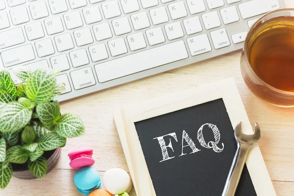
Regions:
[[280, 7], [284, 0], [0, 0], [0, 69], [60, 71], [66, 100], [241, 49], [249, 27]]

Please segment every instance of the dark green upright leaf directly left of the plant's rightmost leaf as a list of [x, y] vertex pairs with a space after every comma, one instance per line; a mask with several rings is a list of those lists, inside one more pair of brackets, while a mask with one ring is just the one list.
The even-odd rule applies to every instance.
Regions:
[[39, 120], [46, 128], [51, 128], [60, 117], [60, 107], [57, 101], [41, 103], [36, 107]]

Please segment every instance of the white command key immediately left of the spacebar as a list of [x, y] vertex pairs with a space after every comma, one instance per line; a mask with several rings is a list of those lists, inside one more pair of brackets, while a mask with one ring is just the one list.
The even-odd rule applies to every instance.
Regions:
[[71, 72], [71, 77], [75, 90], [87, 88], [96, 84], [91, 67]]

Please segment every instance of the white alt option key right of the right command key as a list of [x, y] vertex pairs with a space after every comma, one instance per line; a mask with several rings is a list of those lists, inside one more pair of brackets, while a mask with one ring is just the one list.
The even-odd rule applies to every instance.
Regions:
[[221, 49], [231, 45], [225, 28], [210, 32], [210, 36], [215, 49]]

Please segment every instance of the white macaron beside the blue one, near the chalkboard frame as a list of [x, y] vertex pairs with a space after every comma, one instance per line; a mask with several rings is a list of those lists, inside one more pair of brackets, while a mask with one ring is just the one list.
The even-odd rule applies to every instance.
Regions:
[[106, 191], [113, 195], [128, 193], [132, 189], [132, 181], [127, 172], [114, 168], [107, 170], [103, 176], [103, 185]]

